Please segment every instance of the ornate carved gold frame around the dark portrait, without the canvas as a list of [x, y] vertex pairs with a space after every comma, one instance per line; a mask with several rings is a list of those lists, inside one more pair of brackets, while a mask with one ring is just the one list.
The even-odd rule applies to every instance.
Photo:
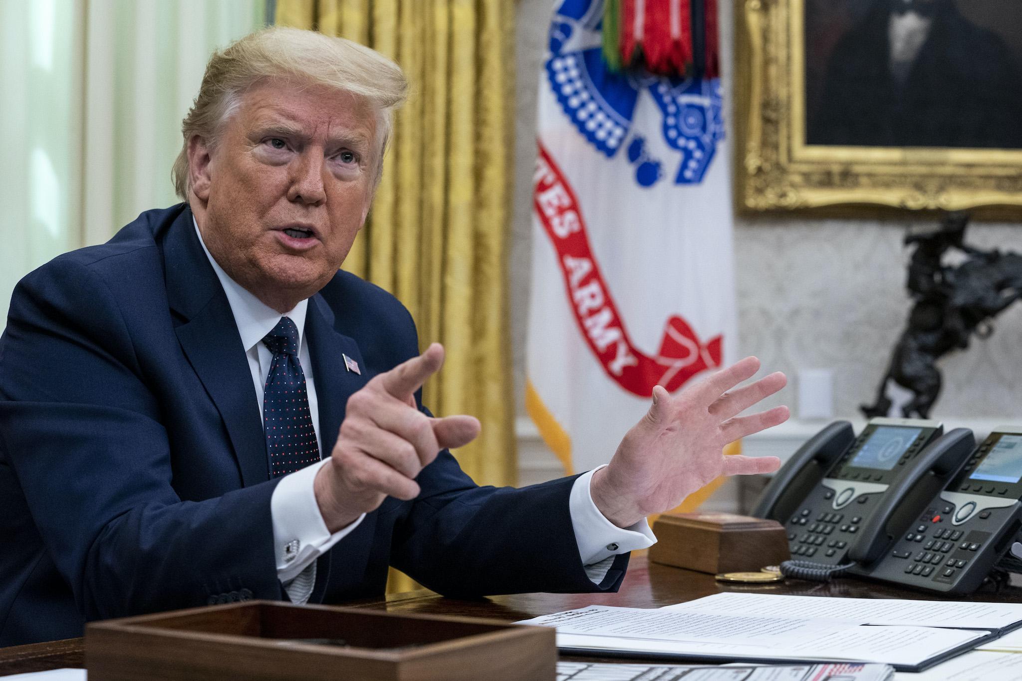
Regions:
[[735, 0], [738, 212], [1022, 218], [1022, 149], [806, 144], [805, 2]]

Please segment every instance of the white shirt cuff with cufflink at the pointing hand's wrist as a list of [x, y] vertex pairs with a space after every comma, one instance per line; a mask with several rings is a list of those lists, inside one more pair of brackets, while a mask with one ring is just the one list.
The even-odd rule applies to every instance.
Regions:
[[323, 553], [359, 526], [366, 517], [359, 516], [351, 525], [330, 534], [316, 502], [313, 484], [320, 468], [329, 463], [306, 467], [284, 478], [277, 484], [270, 497], [270, 517], [273, 519], [273, 546], [277, 560], [277, 578], [288, 582]]

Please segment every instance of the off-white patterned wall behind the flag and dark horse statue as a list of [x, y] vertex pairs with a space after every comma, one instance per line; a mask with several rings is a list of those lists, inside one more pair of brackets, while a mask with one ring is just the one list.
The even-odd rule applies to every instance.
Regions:
[[[515, 394], [524, 415], [525, 323], [528, 309], [530, 178], [535, 158], [536, 93], [554, 0], [519, 0], [514, 223], [511, 244], [512, 341]], [[722, 30], [730, 36], [731, 3], [722, 0]], [[731, 41], [724, 41], [730, 50]], [[727, 64], [726, 64], [727, 65]], [[727, 91], [727, 87], [726, 87]], [[730, 97], [729, 97], [730, 102]], [[729, 123], [733, 115], [729, 117]], [[732, 139], [734, 139], [732, 137]], [[794, 422], [772, 436], [748, 439], [749, 453], [784, 454], [824, 422], [799, 422], [799, 371], [833, 371], [834, 417], [861, 419], [857, 406], [872, 401], [889, 353], [904, 326], [905, 230], [932, 224], [914, 221], [738, 218], [735, 270], [739, 345], [770, 371], [781, 370], [790, 387], [770, 404], [792, 407]], [[974, 225], [967, 241], [1022, 252], [1022, 226]], [[933, 412], [949, 427], [977, 432], [996, 423], [1022, 424], [1022, 303], [996, 323], [988, 340], [942, 360], [944, 388]], [[521, 482], [553, 477], [559, 468], [542, 446], [527, 419], [519, 419]], [[609, 454], [609, 452], [608, 452]], [[714, 507], [737, 502], [734, 486], [713, 499]]]

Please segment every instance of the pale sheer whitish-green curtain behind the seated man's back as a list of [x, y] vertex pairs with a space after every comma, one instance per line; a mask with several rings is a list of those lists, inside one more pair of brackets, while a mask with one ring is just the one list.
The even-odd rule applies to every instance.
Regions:
[[0, 1], [0, 331], [14, 284], [179, 199], [171, 164], [210, 53], [264, 0]]

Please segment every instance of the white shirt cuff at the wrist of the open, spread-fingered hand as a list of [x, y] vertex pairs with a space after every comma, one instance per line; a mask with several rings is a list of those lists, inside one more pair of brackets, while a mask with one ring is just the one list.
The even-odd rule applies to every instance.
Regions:
[[[602, 468], [603, 466], [578, 476], [571, 486], [568, 505], [583, 565], [595, 567], [596, 564], [601, 564], [601, 567], [604, 567], [605, 564], [605, 568], [609, 569], [612, 561], [607, 561], [608, 557], [652, 546], [656, 543], [656, 537], [649, 529], [649, 523], [645, 518], [622, 530], [608, 521], [596, 507], [593, 495], [590, 493], [590, 484], [593, 474]], [[606, 575], [606, 569], [599, 575], [599, 580], [593, 579], [592, 574], [590, 579], [599, 583]]]

